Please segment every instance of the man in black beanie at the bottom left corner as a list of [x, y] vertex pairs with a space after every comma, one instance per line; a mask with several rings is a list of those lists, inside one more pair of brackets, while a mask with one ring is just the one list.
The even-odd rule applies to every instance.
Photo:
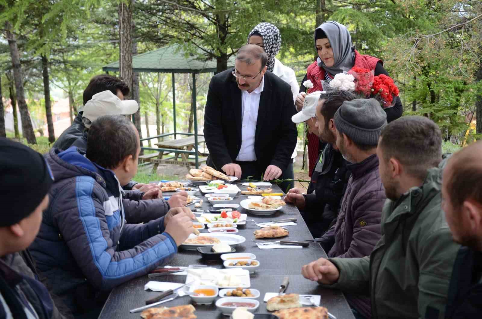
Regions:
[[[49, 205], [52, 173], [45, 159], [20, 143], [0, 138], [0, 318], [72, 318], [60, 314], [39, 278], [27, 247]], [[8, 203], [8, 204], [5, 204]]]

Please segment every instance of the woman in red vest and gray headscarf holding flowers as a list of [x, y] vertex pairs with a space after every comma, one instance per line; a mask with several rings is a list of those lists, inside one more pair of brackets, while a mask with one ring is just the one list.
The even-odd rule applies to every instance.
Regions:
[[[375, 71], [375, 76], [388, 75], [383, 67], [383, 61], [370, 55], [358, 53], [352, 46], [351, 36], [347, 27], [336, 21], [328, 21], [315, 29], [315, 50], [318, 58], [308, 66], [307, 74], [303, 82], [311, 80], [312, 88], [306, 91], [302, 84], [300, 93], [296, 97], [298, 111], [303, 107], [303, 101], [308, 93], [323, 91], [322, 80], [328, 83], [335, 74], [348, 72], [353, 66], [359, 66]], [[400, 97], [395, 97], [395, 105], [385, 108], [387, 121], [396, 120], [402, 116], [403, 106]], [[319, 152], [323, 149], [322, 144], [315, 134], [308, 134], [308, 174], [311, 177]]]

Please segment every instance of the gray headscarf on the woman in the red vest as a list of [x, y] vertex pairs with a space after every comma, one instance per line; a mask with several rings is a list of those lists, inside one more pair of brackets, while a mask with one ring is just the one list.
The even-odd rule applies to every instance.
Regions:
[[335, 63], [333, 66], [325, 66], [323, 61], [321, 61], [320, 57], [318, 56], [318, 66], [322, 67], [325, 71], [333, 75], [351, 69], [355, 65], [355, 47], [353, 47], [351, 44], [351, 36], [347, 27], [336, 21], [327, 21], [320, 27], [317, 27], [314, 35], [315, 50], [316, 33], [317, 30], [320, 29], [326, 34], [326, 37], [330, 41]]

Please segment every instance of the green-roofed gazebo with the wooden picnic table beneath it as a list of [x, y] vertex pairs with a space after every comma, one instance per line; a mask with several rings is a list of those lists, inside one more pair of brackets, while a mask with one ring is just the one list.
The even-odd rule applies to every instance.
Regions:
[[[198, 50], [198, 56], [202, 55], [202, 51]], [[178, 155], [181, 154], [183, 159], [187, 159], [189, 155], [194, 155], [196, 168], [199, 167], [199, 152], [198, 152], [198, 119], [197, 119], [197, 106], [196, 106], [196, 74], [215, 72], [216, 71], [216, 61], [213, 60], [200, 60], [195, 55], [188, 55], [182, 50], [181, 46], [178, 44], [172, 44], [165, 46], [163, 48], [135, 55], [132, 58], [132, 69], [133, 72], [152, 72], [152, 73], [172, 73], [173, 75], [173, 120], [174, 120], [174, 133], [164, 133], [161, 135], [156, 135], [148, 138], [141, 139], [146, 141], [148, 139], [154, 139], [158, 137], [165, 137], [174, 135], [174, 140], [177, 139], [177, 135], [194, 135], [194, 151], [191, 149], [182, 148], [152, 148], [152, 147], [141, 147], [145, 150], [155, 150], [159, 151], [159, 159], [150, 159], [148, 161], [154, 162], [154, 170], [157, 169], [159, 163], [162, 162], [162, 154], [164, 152], [175, 153], [177, 159]], [[228, 67], [234, 66], [234, 57], [228, 60]], [[104, 66], [102, 70], [109, 72], [119, 71], [119, 61], [112, 62], [107, 66]], [[176, 131], [176, 102], [175, 102], [175, 73], [192, 73], [192, 96], [193, 96], [193, 116], [194, 116], [194, 133], [178, 133]], [[165, 160], [164, 160], [165, 161]], [[186, 162], [185, 162], [186, 163]]]

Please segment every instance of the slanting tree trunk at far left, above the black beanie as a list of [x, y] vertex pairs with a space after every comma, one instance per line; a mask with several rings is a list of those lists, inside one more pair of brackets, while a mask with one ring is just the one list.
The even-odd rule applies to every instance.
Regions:
[[15, 79], [15, 92], [17, 93], [17, 103], [18, 108], [20, 109], [20, 117], [22, 119], [23, 135], [27, 138], [29, 144], [37, 144], [35, 133], [33, 133], [32, 121], [28, 114], [27, 102], [25, 101], [22, 67], [20, 66], [20, 55], [18, 53], [17, 41], [15, 40], [13, 33], [10, 31], [12, 28], [10, 22], [5, 22], [5, 28], [7, 29], [8, 45], [12, 57], [13, 78]]

